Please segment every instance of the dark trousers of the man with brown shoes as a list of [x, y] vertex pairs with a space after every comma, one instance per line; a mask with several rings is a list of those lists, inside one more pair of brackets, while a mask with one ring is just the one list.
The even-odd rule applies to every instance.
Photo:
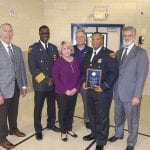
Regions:
[[13, 132], [17, 129], [19, 96], [20, 90], [16, 84], [14, 96], [12, 98], [4, 99], [4, 104], [0, 105], [0, 143], [3, 143], [6, 140], [9, 130]]

